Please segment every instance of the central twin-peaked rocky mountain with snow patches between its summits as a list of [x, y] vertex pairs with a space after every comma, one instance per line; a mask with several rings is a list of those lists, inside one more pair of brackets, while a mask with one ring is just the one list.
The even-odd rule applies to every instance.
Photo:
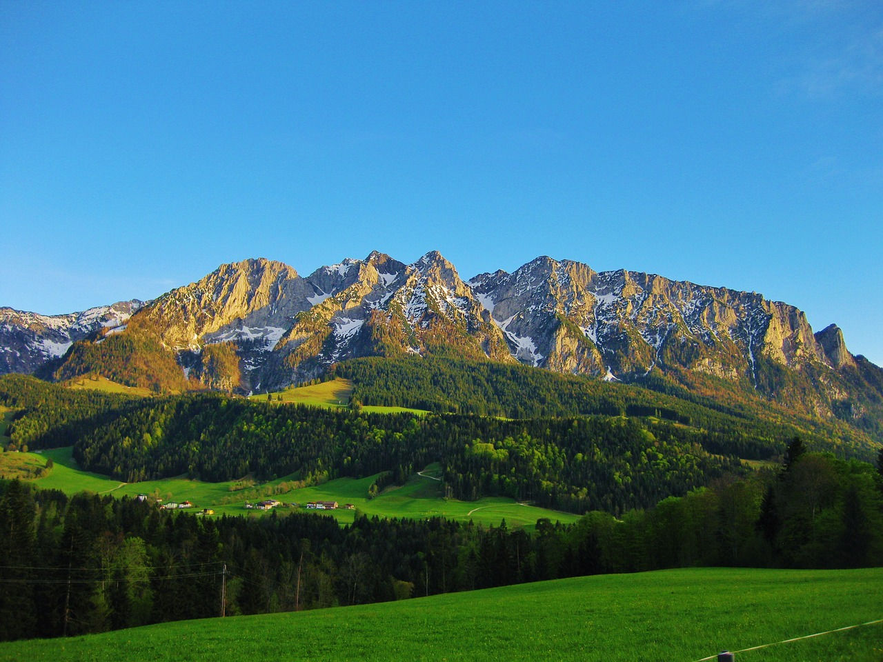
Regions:
[[449, 346], [468, 357], [511, 360], [500, 330], [438, 252], [411, 265], [372, 252], [321, 267], [306, 280], [321, 298], [279, 341], [261, 373], [264, 385], [312, 377], [347, 358]]

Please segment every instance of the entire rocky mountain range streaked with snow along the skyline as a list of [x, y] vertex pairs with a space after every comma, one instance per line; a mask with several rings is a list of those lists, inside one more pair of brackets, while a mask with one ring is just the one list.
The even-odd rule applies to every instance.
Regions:
[[883, 370], [834, 324], [813, 333], [804, 312], [755, 292], [548, 257], [465, 281], [435, 251], [411, 264], [372, 252], [306, 277], [243, 260], [147, 303], [53, 317], [0, 308], [0, 373], [57, 380], [247, 393], [353, 357], [409, 355], [723, 387], [865, 427], [883, 410]]

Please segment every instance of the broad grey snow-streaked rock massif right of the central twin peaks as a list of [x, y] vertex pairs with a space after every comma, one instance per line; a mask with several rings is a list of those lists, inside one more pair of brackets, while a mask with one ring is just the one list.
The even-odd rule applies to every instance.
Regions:
[[559, 372], [631, 379], [685, 368], [754, 384], [758, 352], [798, 369], [851, 357], [842, 338], [826, 350], [803, 312], [753, 293], [545, 257], [470, 284], [515, 357]]

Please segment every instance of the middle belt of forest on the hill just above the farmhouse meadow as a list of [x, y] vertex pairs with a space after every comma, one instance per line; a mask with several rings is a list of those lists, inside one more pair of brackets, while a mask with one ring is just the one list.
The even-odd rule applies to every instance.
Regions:
[[[42, 431], [34, 422], [42, 411], [14, 420], [12, 439], [22, 429]], [[24, 441], [46, 445], [40, 435]], [[416, 417], [206, 394], [125, 402], [87, 418], [73, 446], [81, 467], [126, 482], [294, 474], [313, 484], [384, 470], [404, 481], [438, 462], [449, 496], [459, 499], [504, 495], [577, 513], [619, 513], [743, 471], [736, 457], [709, 453], [706, 441], [721, 440], [655, 418]]]

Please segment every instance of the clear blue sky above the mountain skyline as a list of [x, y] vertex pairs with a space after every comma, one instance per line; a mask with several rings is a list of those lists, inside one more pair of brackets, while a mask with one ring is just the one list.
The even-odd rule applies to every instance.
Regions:
[[0, 0], [0, 305], [437, 249], [756, 290], [883, 364], [883, 3]]

